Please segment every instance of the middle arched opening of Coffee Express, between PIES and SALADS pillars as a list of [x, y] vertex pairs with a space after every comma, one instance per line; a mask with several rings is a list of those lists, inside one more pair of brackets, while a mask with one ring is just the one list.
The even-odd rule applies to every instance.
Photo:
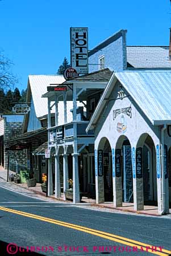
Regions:
[[124, 135], [120, 136], [116, 143], [115, 173], [116, 177], [122, 177], [122, 184], [120, 184], [122, 186], [120, 188], [122, 189], [122, 201], [134, 202], [131, 144]]

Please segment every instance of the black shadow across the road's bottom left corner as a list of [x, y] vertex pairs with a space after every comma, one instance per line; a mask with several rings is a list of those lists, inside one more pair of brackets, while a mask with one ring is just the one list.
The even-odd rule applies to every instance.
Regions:
[[[30, 250], [29, 250], [30, 249]], [[32, 248], [34, 250], [34, 248]], [[36, 248], [35, 248], [36, 250]], [[39, 250], [39, 249], [37, 249]], [[41, 250], [41, 247], [40, 247]], [[28, 249], [24, 249], [23, 247], [18, 247], [15, 245], [15, 243], [6, 243], [3, 241], [0, 241], [0, 255], [3, 256], [9, 256], [9, 255], [14, 255], [14, 256], [45, 256], [48, 255], [45, 253], [44, 249], [44, 254], [37, 253], [36, 251], [31, 251], [31, 247]]]

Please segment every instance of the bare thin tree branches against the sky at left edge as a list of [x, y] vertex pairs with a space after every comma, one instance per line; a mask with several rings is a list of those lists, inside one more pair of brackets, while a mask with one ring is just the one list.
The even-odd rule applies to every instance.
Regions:
[[12, 74], [12, 66], [11, 60], [0, 51], [0, 88], [11, 88], [18, 82], [18, 79]]

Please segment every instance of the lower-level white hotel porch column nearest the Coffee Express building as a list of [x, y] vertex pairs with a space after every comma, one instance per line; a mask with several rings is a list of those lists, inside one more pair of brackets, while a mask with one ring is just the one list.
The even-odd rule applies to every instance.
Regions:
[[78, 156], [80, 154], [73, 153], [73, 204], [80, 202], [80, 185], [78, 175]]

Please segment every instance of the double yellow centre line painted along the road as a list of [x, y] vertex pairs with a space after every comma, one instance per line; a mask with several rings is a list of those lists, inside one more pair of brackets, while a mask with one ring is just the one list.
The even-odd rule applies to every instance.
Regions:
[[[40, 221], [49, 222], [49, 223], [52, 223], [52, 224], [55, 224], [55, 225], [68, 227], [70, 229], [79, 230], [79, 231], [89, 233], [89, 234], [92, 234], [92, 235], [97, 235], [98, 237], [102, 237], [102, 238], [109, 239], [109, 240], [114, 241], [114, 242], [122, 243], [123, 245], [131, 246], [131, 247], [136, 246], [137, 249], [141, 249], [141, 250], [144, 250], [144, 251], [146, 251], [147, 247], [152, 248], [152, 245], [148, 245], [146, 243], [138, 242], [138, 241], [135, 241], [135, 240], [132, 240], [132, 239], [129, 239], [129, 238], [125, 238], [125, 237], [120, 237], [119, 235], [110, 234], [110, 233], [103, 232], [103, 231], [100, 231], [100, 230], [89, 229], [89, 227], [84, 227], [84, 226], [70, 224], [68, 222], [53, 220], [51, 218], [46, 218], [46, 217], [42, 217], [42, 216], [38, 216], [38, 215], [35, 215], [35, 214], [26, 213], [26, 212], [20, 212], [18, 210], [13, 210], [13, 209], [1, 207], [1, 206], [0, 206], [0, 210], [3, 210], [5, 212], [18, 214], [18, 215], [25, 216], [25, 217], [29, 217], [29, 218], [34, 218], [34, 219], [40, 220]], [[155, 246], [153, 246], [153, 247], [155, 247]], [[158, 251], [151, 251], [150, 250], [148, 252], [156, 254], [156, 255], [160, 255], [160, 256], [166, 256], [166, 255], [171, 254], [171, 251], [168, 251], [168, 250], [165, 250], [165, 249], [162, 249], [162, 251], [160, 251], [160, 249], [157, 249], [157, 250]]]

